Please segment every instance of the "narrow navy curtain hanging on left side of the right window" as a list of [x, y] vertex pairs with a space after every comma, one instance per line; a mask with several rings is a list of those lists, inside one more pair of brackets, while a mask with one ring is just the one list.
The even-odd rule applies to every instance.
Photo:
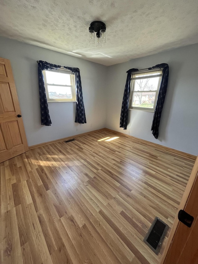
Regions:
[[124, 88], [123, 103], [120, 115], [120, 128], [127, 129], [127, 118], [128, 118], [128, 106], [129, 106], [129, 96], [131, 89], [131, 73], [138, 71], [138, 69], [130, 69], [127, 71], [127, 81]]

